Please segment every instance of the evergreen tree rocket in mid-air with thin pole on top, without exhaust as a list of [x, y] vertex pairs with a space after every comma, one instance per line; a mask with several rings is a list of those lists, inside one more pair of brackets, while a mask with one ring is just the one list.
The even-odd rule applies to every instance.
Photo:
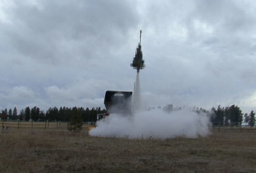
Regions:
[[139, 73], [139, 70], [145, 68], [144, 60], [142, 59], [142, 50], [141, 50], [141, 33], [142, 30], [140, 30], [140, 36], [139, 36], [139, 44], [136, 49], [135, 57], [133, 58], [133, 63], [130, 64], [131, 67], [134, 69], [137, 69], [137, 73]]

